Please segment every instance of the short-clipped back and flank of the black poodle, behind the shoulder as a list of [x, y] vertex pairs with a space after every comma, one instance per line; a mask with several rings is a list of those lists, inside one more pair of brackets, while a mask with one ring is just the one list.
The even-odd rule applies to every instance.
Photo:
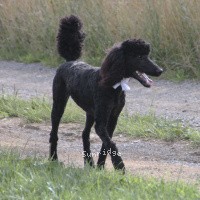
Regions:
[[92, 111], [99, 77], [99, 68], [81, 61], [70, 61], [58, 68], [54, 85], [60, 82], [83, 110]]

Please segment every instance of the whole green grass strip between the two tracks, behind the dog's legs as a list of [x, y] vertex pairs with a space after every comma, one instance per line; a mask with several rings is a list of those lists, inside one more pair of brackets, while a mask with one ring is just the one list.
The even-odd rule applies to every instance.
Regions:
[[[23, 100], [17, 96], [0, 96], [0, 118], [20, 117], [27, 123], [49, 122], [51, 103], [45, 99]], [[63, 123], [84, 123], [85, 113], [70, 100], [62, 118]], [[116, 133], [134, 138], [155, 138], [166, 141], [188, 140], [200, 145], [200, 131], [183, 126], [179, 121], [158, 118], [153, 113], [148, 115], [120, 115]]]

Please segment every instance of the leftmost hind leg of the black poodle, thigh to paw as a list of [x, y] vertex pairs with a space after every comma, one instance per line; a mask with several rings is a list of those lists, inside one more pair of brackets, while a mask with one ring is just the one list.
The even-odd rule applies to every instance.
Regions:
[[64, 113], [66, 103], [69, 99], [67, 88], [58, 76], [55, 76], [53, 82], [53, 108], [51, 112], [52, 129], [50, 133], [50, 159], [57, 160], [57, 141], [58, 141], [58, 127], [60, 119]]

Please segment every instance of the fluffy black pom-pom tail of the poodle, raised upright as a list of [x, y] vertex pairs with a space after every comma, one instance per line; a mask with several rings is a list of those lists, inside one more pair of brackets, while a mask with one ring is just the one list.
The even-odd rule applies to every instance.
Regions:
[[60, 56], [67, 61], [77, 60], [81, 57], [85, 33], [81, 30], [81, 20], [70, 15], [60, 20], [57, 35], [57, 49]]

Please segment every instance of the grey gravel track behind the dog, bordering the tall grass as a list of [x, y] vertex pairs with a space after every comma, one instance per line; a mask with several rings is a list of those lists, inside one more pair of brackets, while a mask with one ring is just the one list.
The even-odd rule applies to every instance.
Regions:
[[[18, 93], [23, 98], [52, 96], [52, 80], [56, 69], [40, 64], [22, 64], [0, 61], [1, 92]], [[150, 89], [131, 80], [125, 109], [133, 113], [155, 112], [157, 116], [180, 119], [194, 127], [200, 127], [200, 82], [172, 83], [154, 81]]]

